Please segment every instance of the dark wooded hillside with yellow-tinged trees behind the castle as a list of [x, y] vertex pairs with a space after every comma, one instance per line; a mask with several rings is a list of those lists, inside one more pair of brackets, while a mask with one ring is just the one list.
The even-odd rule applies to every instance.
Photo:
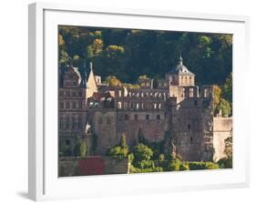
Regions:
[[[179, 51], [198, 84], [222, 85], [232, 70], [231, 35], [79, 26], [59, 26], [58, 31], [60, 64], [67, 61], [65, 52], [71, 59], [80, 56], [93, 61], [103, 78], [115, 73], [128, 84], [138, 76], [163, 77], [177, 65]], [[223, 97], [231, 103], [226, 83]]]

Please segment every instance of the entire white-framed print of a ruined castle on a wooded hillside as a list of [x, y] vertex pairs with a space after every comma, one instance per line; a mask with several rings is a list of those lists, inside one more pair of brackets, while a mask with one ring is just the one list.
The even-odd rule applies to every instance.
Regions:
[[248, 24], [29, 5], [29, 197], [248, 186]]

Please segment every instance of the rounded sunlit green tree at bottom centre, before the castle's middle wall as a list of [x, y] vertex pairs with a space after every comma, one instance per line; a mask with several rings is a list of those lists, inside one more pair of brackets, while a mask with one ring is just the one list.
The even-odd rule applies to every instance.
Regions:
[[138, 146], [135, 146], [133, 153], [137, 161], [149, 160], [153, 156], [152, 149], [143, 144], [138, 144]]

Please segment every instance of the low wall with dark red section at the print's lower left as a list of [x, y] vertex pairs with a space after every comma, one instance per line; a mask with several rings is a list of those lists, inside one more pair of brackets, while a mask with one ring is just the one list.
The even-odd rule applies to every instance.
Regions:
[[58, 176], [88, 176], [104, 174], [127, 174], [128, 158], [113, 157], [86, 157], [86, 158], [59, 158]]

